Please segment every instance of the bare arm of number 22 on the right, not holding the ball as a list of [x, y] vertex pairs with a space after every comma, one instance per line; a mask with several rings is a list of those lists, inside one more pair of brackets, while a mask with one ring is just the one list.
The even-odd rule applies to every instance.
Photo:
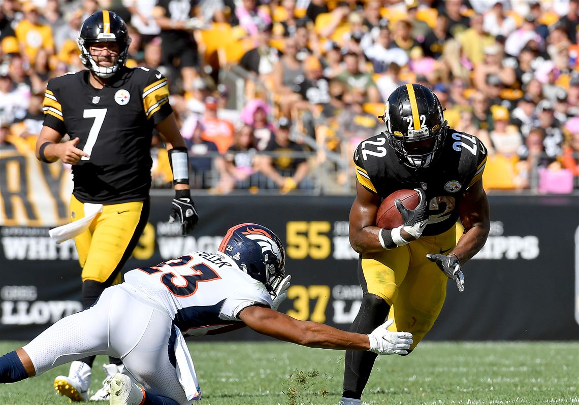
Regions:
[[464, 265], [485, 245], [490, 230], [490, 206], [482, 179], [474, 183], [459, 205], [460, 222], [464, 226], [464, 234], [453, 249], [460, 263]]

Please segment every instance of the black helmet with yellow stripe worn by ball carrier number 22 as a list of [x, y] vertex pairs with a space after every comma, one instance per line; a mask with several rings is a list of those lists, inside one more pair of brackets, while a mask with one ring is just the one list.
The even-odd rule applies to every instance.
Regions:
[[422, 84], [404, 84], [384, 105], [386, 136], [400, 160], [412, 168], [431, 164], [441, 149], [448, 122], [438, 97]]

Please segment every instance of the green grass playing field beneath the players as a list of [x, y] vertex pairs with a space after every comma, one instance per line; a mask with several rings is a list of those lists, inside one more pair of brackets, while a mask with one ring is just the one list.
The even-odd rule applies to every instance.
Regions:
[[[0, 353], [19, 347], [1, 342]], [[343, 351], [286, 343], [190, 343], [203, 405], [338, 404]], [[91, 391], [104, 378], [98, 356]], [[0, 404], [65, 404], [52, 380], [0, 386]], [[579, 343], [422, 343], [412, 355], [376, 361], [362, 397], [368, 404], [577, 404]]]

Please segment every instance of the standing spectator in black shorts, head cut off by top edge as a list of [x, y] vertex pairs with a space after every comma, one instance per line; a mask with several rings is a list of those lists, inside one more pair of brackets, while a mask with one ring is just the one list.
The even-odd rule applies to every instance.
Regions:
[[193, 30], [197, 28], [192, 20], [194, 7], [193, 0], [159, 0], [152, 11], [161, 29], [163, 65], [178, 69], [185, 91], [192, 90], [193, 80], [198, 76], [199, 54], [193, 38]]

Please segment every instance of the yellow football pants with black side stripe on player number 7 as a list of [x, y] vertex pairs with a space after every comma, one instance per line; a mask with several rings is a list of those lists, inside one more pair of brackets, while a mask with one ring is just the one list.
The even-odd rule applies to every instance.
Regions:
[[[83, 218], [82, 202], [71, 196], [71, 219]], [[87, 229], [75, 238], [82, 281], [120, 282], [120, 270], [133, 253], [149, 218], [149, 201], [103, 205]]]

